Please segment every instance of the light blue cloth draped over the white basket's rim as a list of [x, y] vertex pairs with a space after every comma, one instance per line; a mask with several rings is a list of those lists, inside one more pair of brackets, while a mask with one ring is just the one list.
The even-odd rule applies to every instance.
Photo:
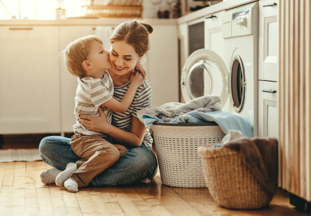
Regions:
[[[153, 122], [160, 121], [163, 122], [161, 118], [154, 115], [142, 115], [142, 119], [146, 127], [150, 127]], [[224, 111], [214, 111], [214, 112], [201, 112], [201, 111], [190, 111], [183, 115], [176, 117], [170, 122], [207, 122], [214, 121], [222, 129], [222, 131], [227, 134], [229, 130], [238, 130], [246, 137], [253, 137], [253, 127], [251, 122], [244, 116], [233, 114]]]

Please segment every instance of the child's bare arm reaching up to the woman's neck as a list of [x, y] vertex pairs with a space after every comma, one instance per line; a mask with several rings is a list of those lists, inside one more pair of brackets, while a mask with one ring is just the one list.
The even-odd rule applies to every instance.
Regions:
[[136, 90], [139, 86], [142, 85], [142, 83], [145, 81], [145, 78], [143, 78], [142, 74], [136, 73], [131, 75], [130, 81], [131, 84], [129, 89], [121, 101], [111, 98], [109, 101], [103, 103], [103, 105], [116, 112], [125, 112], [132, 104]]

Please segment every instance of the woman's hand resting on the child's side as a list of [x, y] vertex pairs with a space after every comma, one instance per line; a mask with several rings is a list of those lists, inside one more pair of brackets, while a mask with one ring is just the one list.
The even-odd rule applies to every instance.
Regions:
[[97, 117], [80, 114], [78, 120], [87, 130], [106, 133], [110, 123], [101, 107], [98, 108], [98, 111], [100, 115]]

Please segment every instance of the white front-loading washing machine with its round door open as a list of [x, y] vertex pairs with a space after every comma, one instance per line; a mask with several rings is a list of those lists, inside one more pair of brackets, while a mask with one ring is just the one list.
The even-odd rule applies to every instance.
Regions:
[[258, 2], [225, 11], [223, 56], [208, 49], [193, 52], [181, 73], [185, 102], [219, 95], [222, 110], [245, 116], [258, 135]]

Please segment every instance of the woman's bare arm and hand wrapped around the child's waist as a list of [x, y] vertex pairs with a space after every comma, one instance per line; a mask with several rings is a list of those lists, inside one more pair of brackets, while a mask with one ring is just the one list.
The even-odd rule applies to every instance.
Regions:
[[131, 132], [123, 131], [107, 121], [102, 109], [99, 109], [100, 116], [80, 115], [80, 123], [90, 131], [105, 133], [126, 147], [139, 147], [146, 132], [145, 126], [137, 117], [132, 116]]

